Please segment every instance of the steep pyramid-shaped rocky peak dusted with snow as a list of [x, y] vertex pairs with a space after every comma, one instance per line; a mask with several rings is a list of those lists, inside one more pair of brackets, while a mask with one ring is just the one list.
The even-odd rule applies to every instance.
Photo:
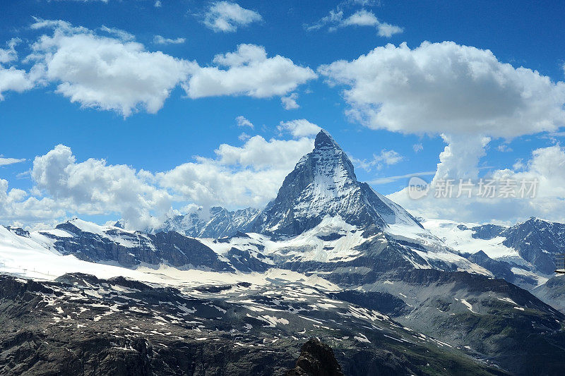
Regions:
[[403, 222], [420, 226], [402, 207], [357, 181], [347, 154], [326, 133], [316, 135], [314, 150], [287, 175], [277, 198], [258, 215], [250, 229], [268, 234], [297, 235], [323, 217], [340, 216], [355, 226]]

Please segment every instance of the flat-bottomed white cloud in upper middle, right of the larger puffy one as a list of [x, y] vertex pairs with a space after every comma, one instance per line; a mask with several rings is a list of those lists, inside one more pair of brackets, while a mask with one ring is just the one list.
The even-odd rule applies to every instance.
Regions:
[[184, 84], [189, 97], [283, 96], [295, 90], [298, 85], [317, 77], [311, 68], [297, 66], [283, 56], [268, 58], [265, 49], [254, 44], [239, 44], [237, 51], [216, 55], [214, 63], [217, 66], [194, 70], [194, 74]]

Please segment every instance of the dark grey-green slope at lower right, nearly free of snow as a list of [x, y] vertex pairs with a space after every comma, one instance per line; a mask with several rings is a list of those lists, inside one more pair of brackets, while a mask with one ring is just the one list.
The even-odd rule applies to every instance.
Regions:
[[[468, 346], [512, 374], [551, 375], [565, 362], [565, 315], [503, 279], [412, 269], [381, 276], [363, 289], [400, 296], [412, 309], [391, 313], [393, 320], [451, 346]], [[359, 294], [355, 303], [369, 307], [373, 301]]]

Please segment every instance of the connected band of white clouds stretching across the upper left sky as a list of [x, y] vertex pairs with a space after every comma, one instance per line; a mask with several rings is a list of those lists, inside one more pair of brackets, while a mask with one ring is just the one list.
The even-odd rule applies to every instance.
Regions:
[[[88, 107], [116, 111], [125, 117], [136, 111], [155, 114], [170, 93], [181, 85], [189, 98], [245, 95], [255, 98], [282, 97], [287, 109], [297, 108], [299, 85], [317, 78], [309, 68], [291, 59], [268, 57], [265, 49], [240, 44], [237, 51], [218, 54], [212, 66], [201, 67], [162, 53], [147, 51], [123, 30], [90, 30], [63, 20], [41, 20], [32, 30], [50, 30], [30, 45], [24, 60], [30, 71], [3, 64], [17, 60], [15, 46], [0, 49], [0, 100], [9, 90], [23, 92], [37, 85], [55, 84], [55, 92]], [[103, 35], [100, 35], [102, 33]], [[184, 38], [155, 36], [155, 44], [184, 42]]]

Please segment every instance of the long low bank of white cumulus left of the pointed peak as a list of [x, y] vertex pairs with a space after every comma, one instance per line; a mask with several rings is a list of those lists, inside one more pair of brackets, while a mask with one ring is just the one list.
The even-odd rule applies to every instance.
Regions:
[[57, 145], [33, 160], [29, 191], [8, 189], [8, 181], [0, 179], [0, 218], [3, 224], [34, 227], [71, 215], [113, 214], [131, 229], [144, 229], [174, 212], [175, 202], [262, 207], [313, 147], [312, 138], [247, 136], [240, 147], [220, 145], [215, 158], [195, 157], [154, 174], [105, 159], [78, 161], [69, 147]]

